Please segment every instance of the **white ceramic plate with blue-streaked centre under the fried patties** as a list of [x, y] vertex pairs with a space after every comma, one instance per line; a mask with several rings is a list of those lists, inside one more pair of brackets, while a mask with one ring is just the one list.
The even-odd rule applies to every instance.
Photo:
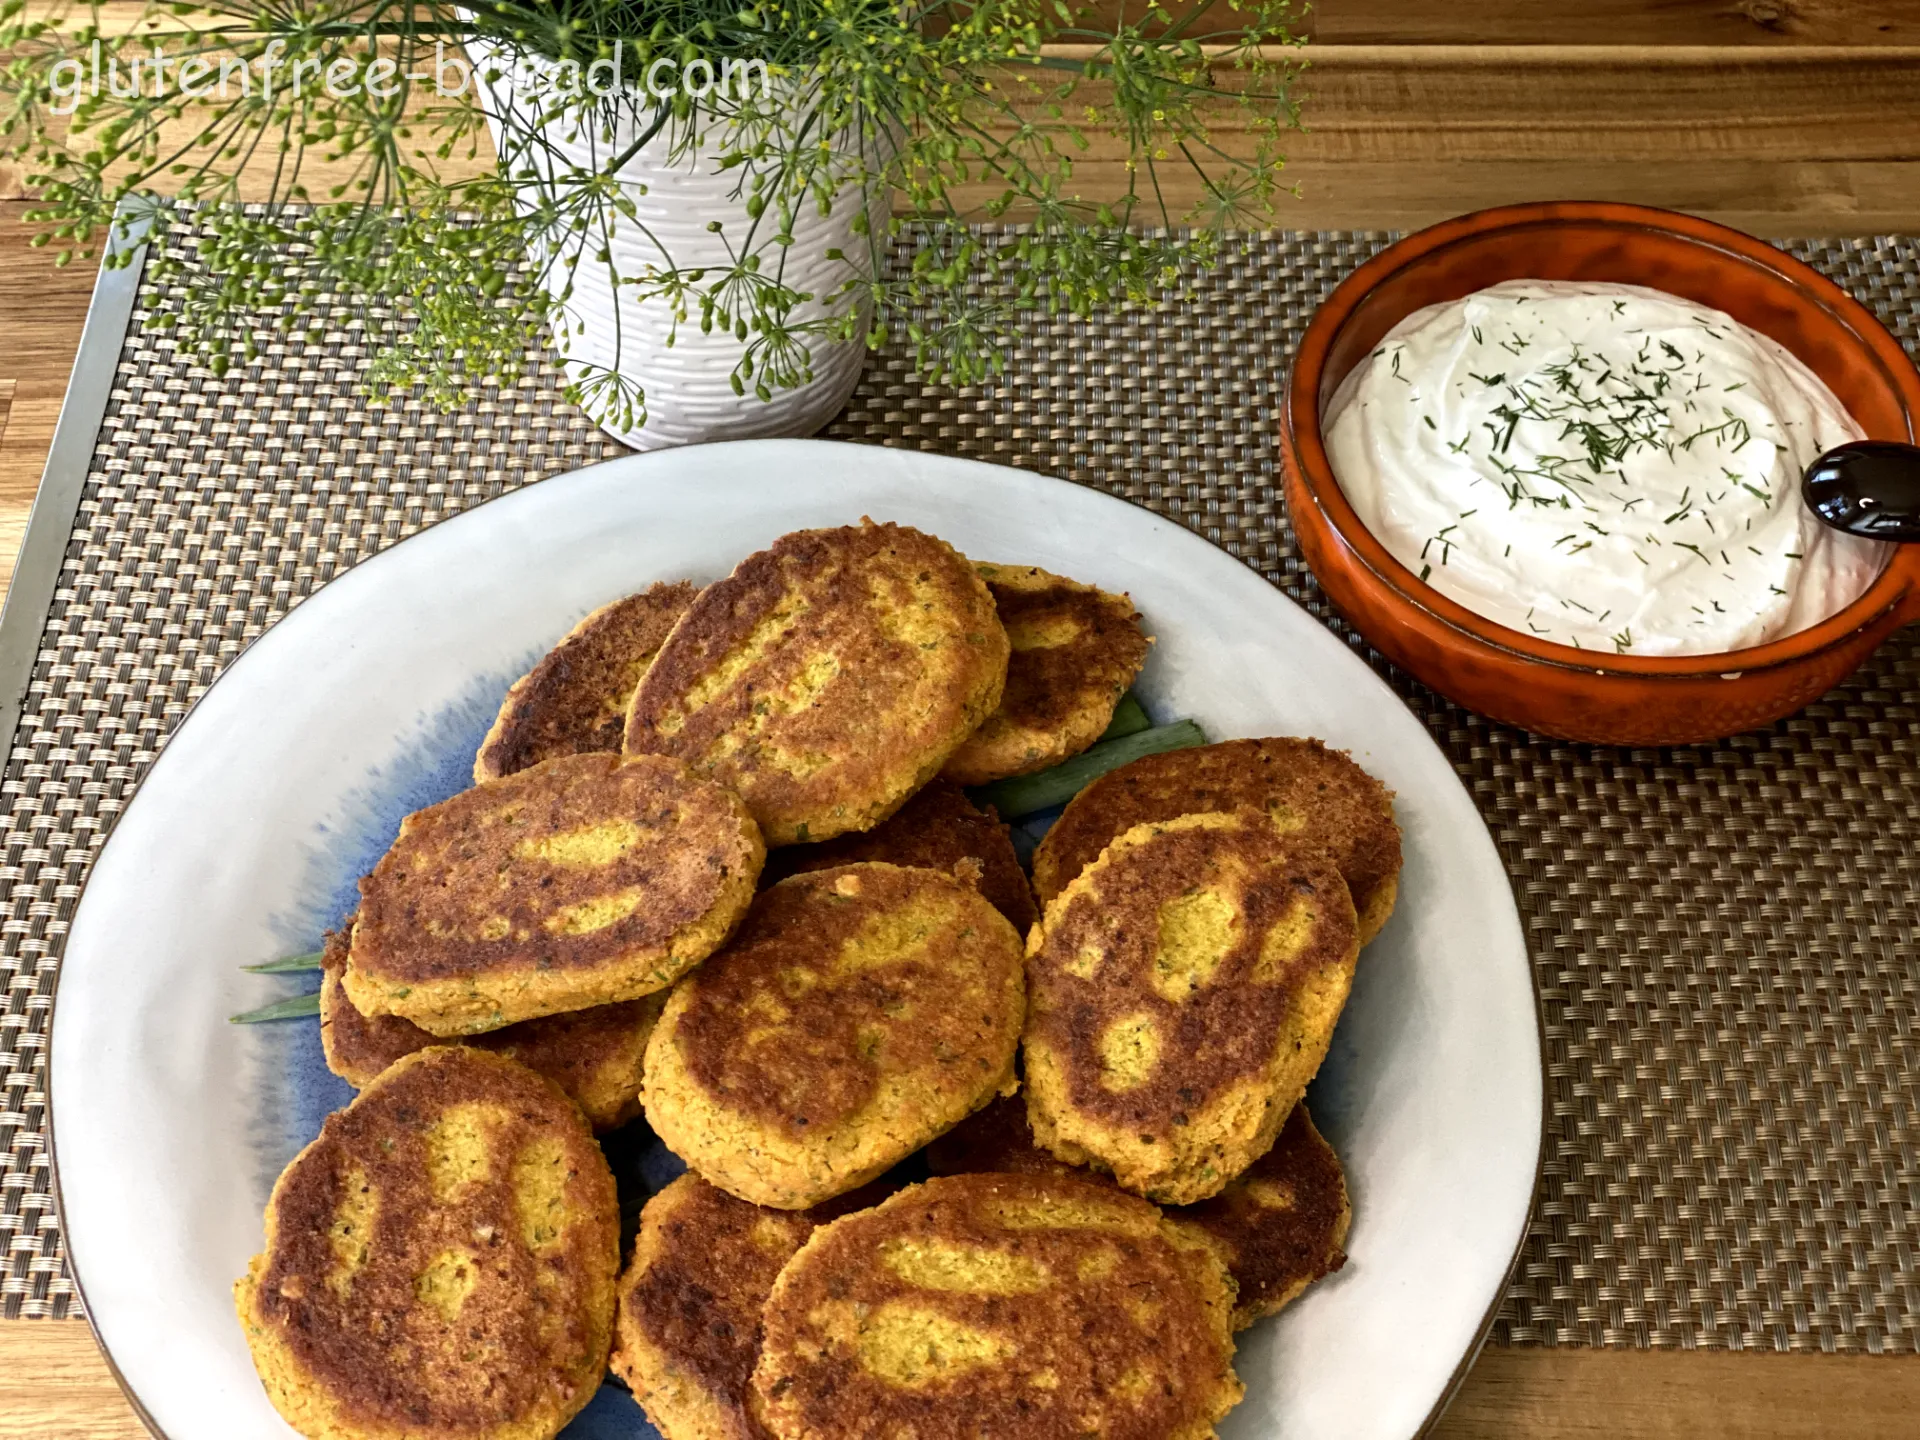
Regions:
[[[313, 977], [240, 966], [317, 947], [586, 611], [862, 515], [1131, 591], [1160, 637], [1140, 680], [1158, 720], [1321, 735], [1398, 793], [1400, 908], [1311, 1092], [1354, 1192], [1350, 1260], [1242, 1336], [1225, 1434], [1402, 1440], [1444, 1402], [1526, 1225], [1542, 1091], [1507, 876], [1427, 732], [1309, 614], [1148, 511], [973, 461], [749, 442], [549, 480], [355, 566], [228, 666], [115, 826], [61, 966], [54, 1154], [88, 1315], [163, 1436], [292, 1434], [228, 1286], [275, 1175], [349, 1096], [317, 1021], [227, 1023]], [[651, 1430], [609, 1388], [568, 1430], [589, 1434]]]

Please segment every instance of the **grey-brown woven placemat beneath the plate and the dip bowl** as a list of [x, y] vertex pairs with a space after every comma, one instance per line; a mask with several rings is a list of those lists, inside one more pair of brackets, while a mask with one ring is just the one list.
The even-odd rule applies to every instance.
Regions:
[[[1496, 1338], [1920, 1348], [1920, 630], [1768, 732], [1613, 751], [1467, 714], [1329, 612], [1275, 490], [1275, 401], [1325, 292], [1384, 234], [1283, 234], [1188, 301], [1035, 324], [1008, 378], [876, 355], [841, 440], [1100, 486], [1258, 568], [1428, 724], [1513, 876], [1548, 1037], [1548, 1146]], [[1916, 346], [1912, 240], [1795, 252]], [[355, 561], [616, 453], [551, 371], [457, 415], [369, 409], [353, 311], [225, 380], [146, 286], [0, 787], [4, 1313], [77, 1302], [48, 1198], [46, 1014], [98, 837], [238, 649]], [[1417, 1317], [1407, 1319], [1417, 1325]]]

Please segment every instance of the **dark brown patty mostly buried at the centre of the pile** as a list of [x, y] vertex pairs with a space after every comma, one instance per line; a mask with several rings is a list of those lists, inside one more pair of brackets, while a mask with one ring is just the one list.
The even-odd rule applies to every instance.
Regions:
[[[918, 866], [954, 874], [956, 866], [977, 860], [979, 893], [993, 908], [1025, 935], [1039, 910], [1033, 908], [1033, 887], [1014, 854], [1014, 839], [998, 816], [981, 810], [966, 791], [945, 778], [935, 778], [902, 804], [891, 818], [864, 833], [841, 835], [824, 845], [789, 845], [774, 851], [766, 874], [776, 879], [808, 870], [860, 860], [885, 860], [895, 866]], [[776, 874], [778, 872], [778, 874]], [[766, 876], [762, 876], [766, 879]]]

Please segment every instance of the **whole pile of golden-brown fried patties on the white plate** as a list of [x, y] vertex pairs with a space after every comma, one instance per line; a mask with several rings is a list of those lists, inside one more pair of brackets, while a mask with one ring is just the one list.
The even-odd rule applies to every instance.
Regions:
[[[1231, 741], [1083, 789], [1029, 887], [962, 785], [1094, 745], [1148, 653], [872, 520], [563, 637], [328, 937], [361, 1096], [236, 1286], [288, 1423], [551, 1440], [611, 1354], [666, 1440], [1212, 1436], [1233, 1331], [1344, 1263], [1300, 1096], [1400, 833]], [[687, 1173], [616, 1281], [591, 1137], [641, 1112]]]

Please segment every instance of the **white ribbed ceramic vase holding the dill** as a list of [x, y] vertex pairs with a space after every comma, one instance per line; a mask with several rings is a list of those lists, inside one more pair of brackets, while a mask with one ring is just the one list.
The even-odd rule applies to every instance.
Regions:
[[[468, 46], [476, 50], [476, 46]], [[480, 56], [474, 56], [476, 61]], [[484, 65], [482, 65], [484, 69]], [[499, 88], [511, 77], [499, 81]], [[515, 111], [495, 90], [492, 109]], [[605, 161], [624, 154], [645, 115], [622, 113], [612, 136], [605, 132], [557, 134], [549, 127], [545, 142], [564, 156], [564, 163], [582, 169], [601, 169]], [[513, 121], [509, 121], [511, 125]], [[495, 148], [511, 148], [511, 134], [492, 121]], [[720, 144], [716, 131], [701, 134], [699, 144], [670, 159], [668, 131], [649, 140], [616, 175], [634, 202], [636, 217], [609, 213], [614, 267], [622, 276], [641, 276], [668, 259], [682, 271], [718, 271], [732, 265], [728, 240], [739, 246], [753, 223], [747, 215], [741, 171], [718, 169]], [[549, 171], [551, 173], [551, 171]], [[778, 228], [772, 213], [764, 215], [753, 252], [760, 255], [762, 271], [778, 275], [795, 290], [816, 300], [803, 301], [795, 321], [820, 319], [829, 307], [822, 298], [835, 294], [849, 278], [847, 261], [829, 259], [829, 250], [864, 255], [870, 240], [854, 234], [860, 213], [860, 192], [843, 188], [833, 211], [820, 215], [818, 205], [803, 205], [793, 223], [793, 244], [776, 246]], [[885, 204], [885, 202], [881, 202]], [[710, 221], [722, 223], [722, 232], [708, 230]], [[874, 215], [874, 232], [885, 232], [885, 215]], [[555, 267], [547, 286], [559, 294], [568, 276]], [[839, 305], [852, 303], [841, 300]], [[860, 334], [866, 332], [870, 307], [860, 303]], [[733, 394], [733, 369], [747, 342], [732, 332], [703, 334], [697, 307], [676, 326], [672, 309], [659, 298], [636, 298], [632, 286], [612, 284], [607, 265], [597, 261], [593, 246], [572, 273], [572, 296], [566, 300], [568, 324], [555, 324], [555, 349], [570, 380], [582, 380], [595, 369], [614, 369], [645, 390], [647, 420], [639, 428], [620, 428], [605, 422], [607, 434], [636, 449], [693, 445], [705, 440], [753, 440], [764, 436], [810, 436], [847, 403], [860, 380], [866, 346], [860, 342], [831, 342], [804, 336], [812, 357], [812, 378], [793, 390], [776, 390], [772, 399], [760, 399], [751, 384], [745, 396]]]

